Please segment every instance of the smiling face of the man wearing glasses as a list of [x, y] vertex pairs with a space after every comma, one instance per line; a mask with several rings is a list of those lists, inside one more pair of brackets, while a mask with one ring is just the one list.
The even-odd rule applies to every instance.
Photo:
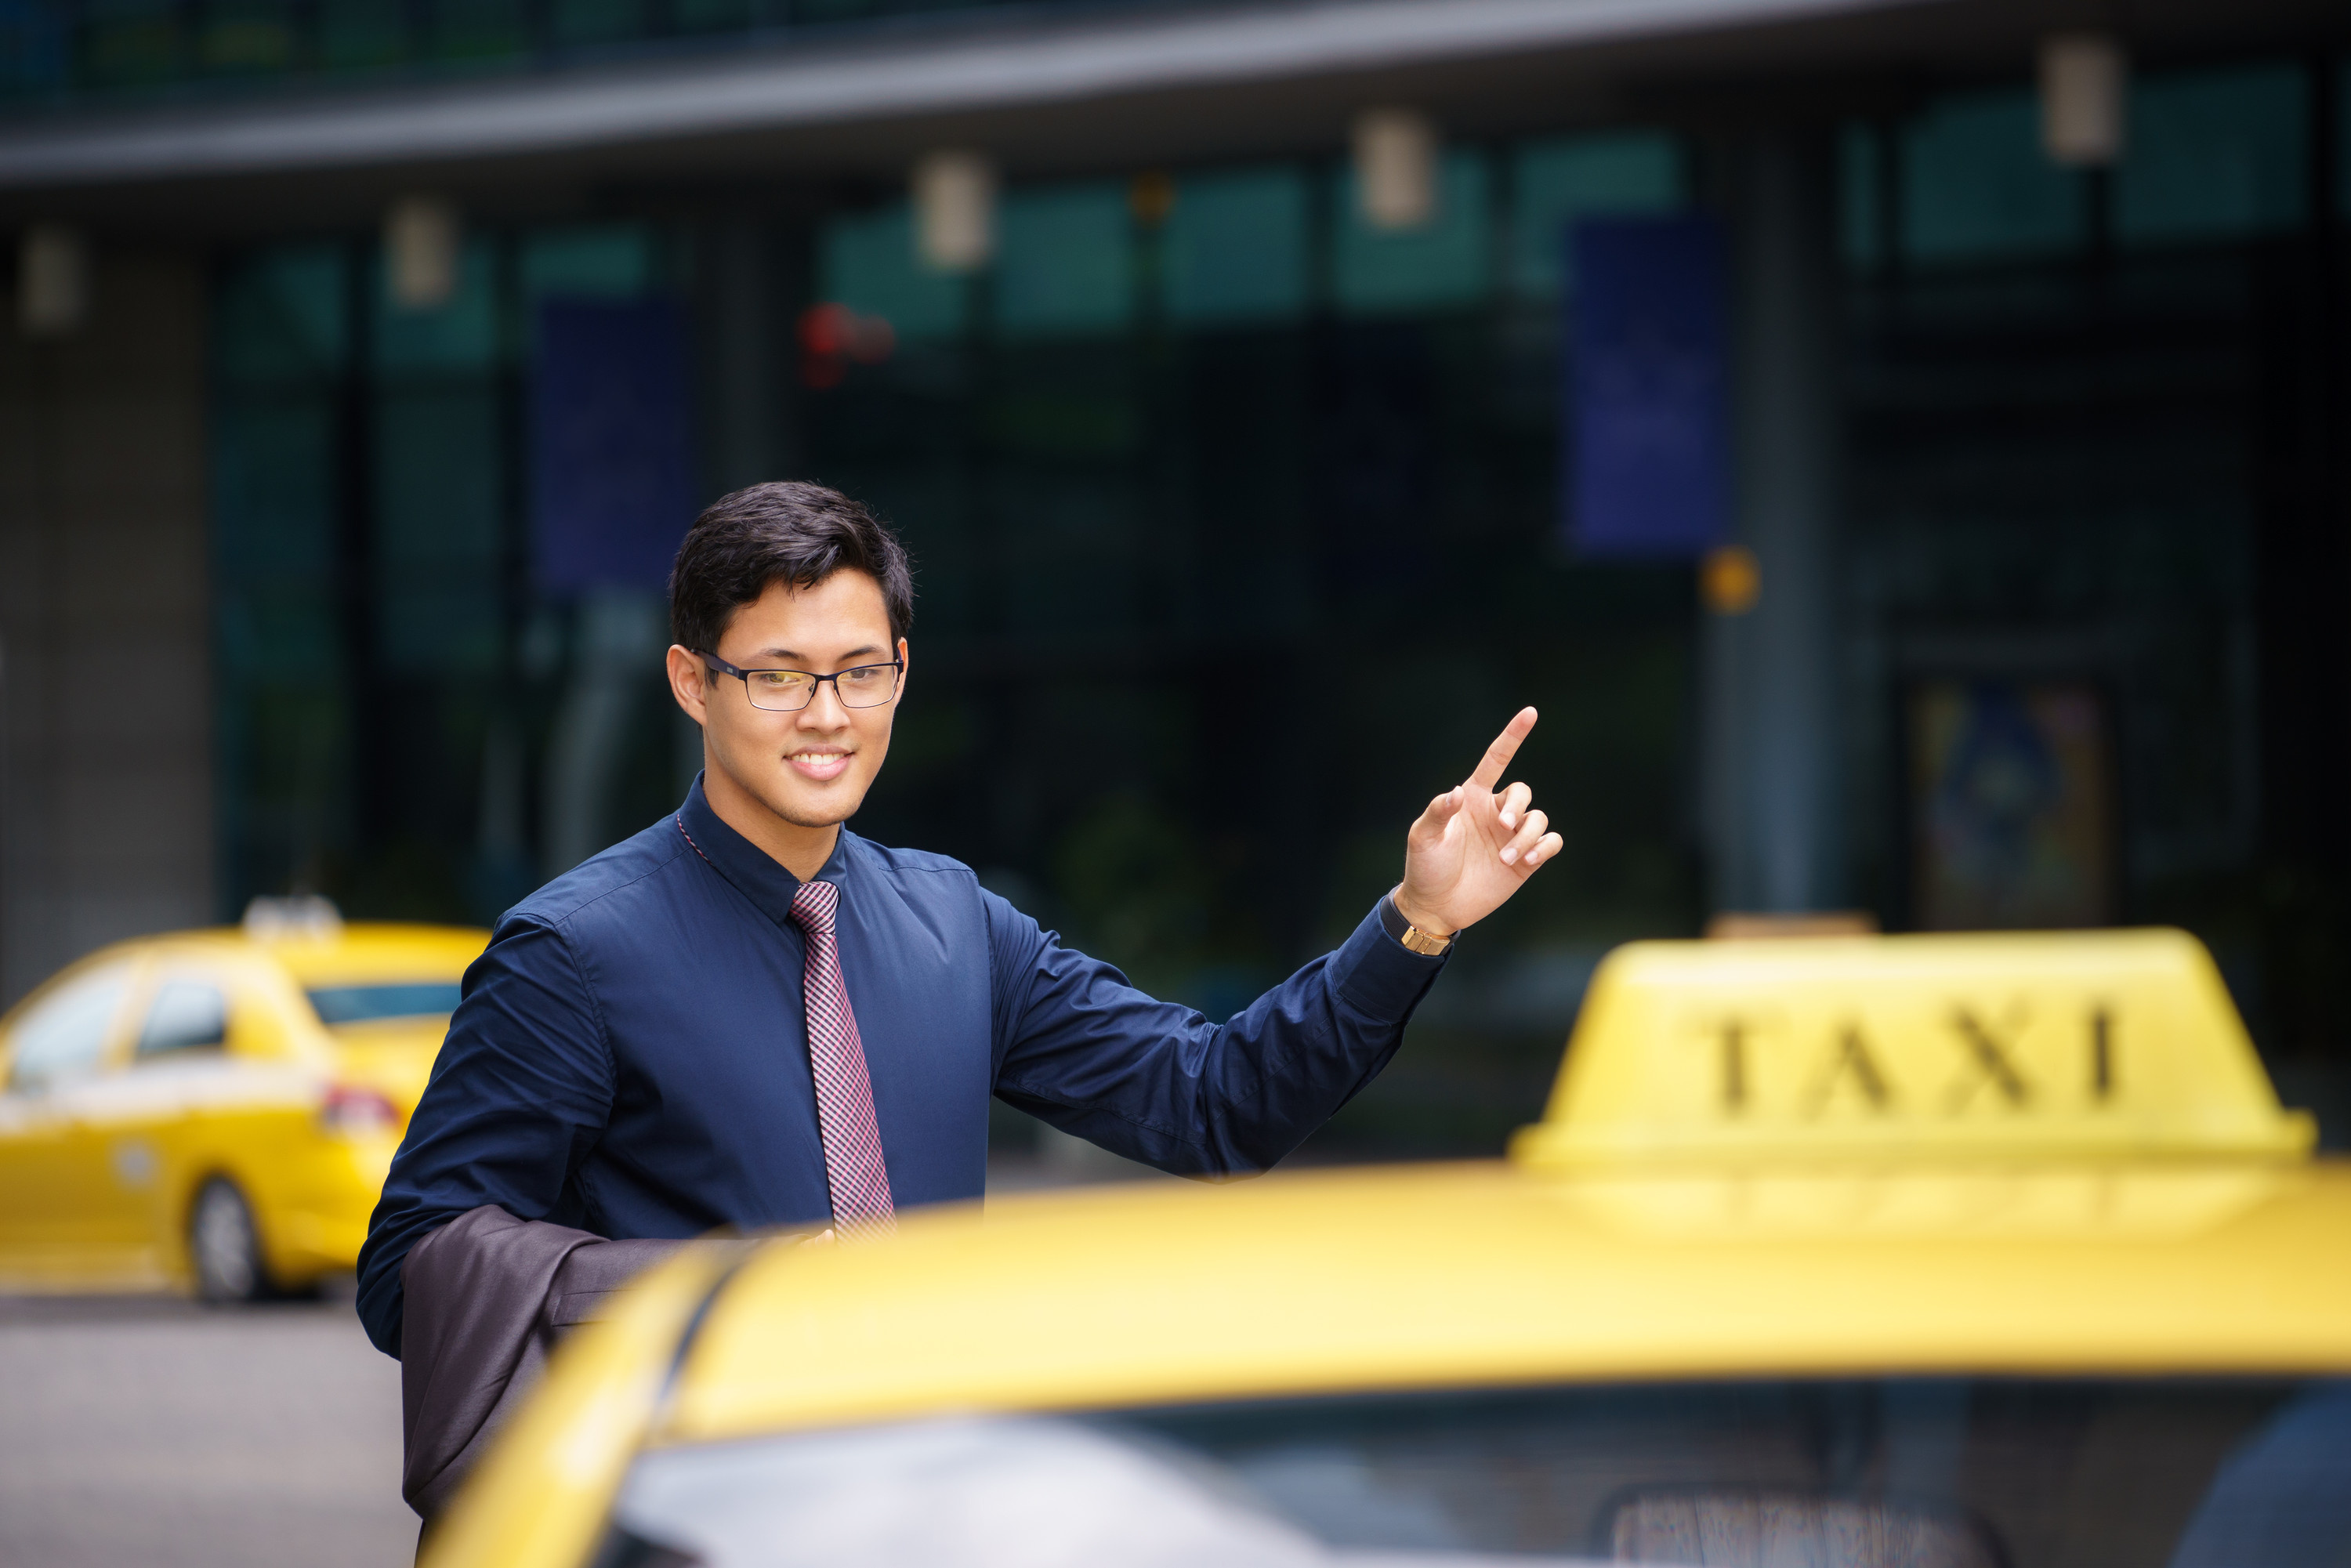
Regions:
[[[889, 609], [872, 576], [835, 571], [802, 590], [769, 583], [710, 651], [738, 670], [835, 675], [905, 658], [905, 639], [891, 644]], [[719, 820], [795, 877], [820, 870], [839, 825], [856, 816], [882, 771], [905, 679], [879, 708], [844, 708], [835, 682], [823, 682], [806, 708], [776, 712], [755, 708], [734, 675], [672, 646], [670, 689], [703, 726], [703, 792]]]

